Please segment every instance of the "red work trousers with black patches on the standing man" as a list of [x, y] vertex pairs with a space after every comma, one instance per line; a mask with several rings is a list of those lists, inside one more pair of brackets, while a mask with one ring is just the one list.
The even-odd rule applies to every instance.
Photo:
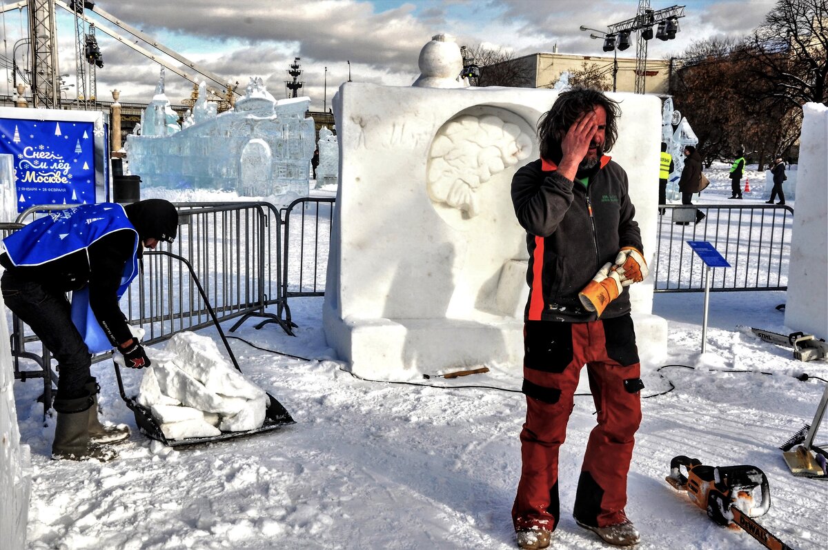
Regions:
[[581, 466], [575, 519], [598, 527], [623, 522], [643, 388], [632, 319], [626, 315], [586, 323], [527, 321], [523, 335], [527, 413], [512, 510], [515, 529], [557, 527], [558, 449], [566, 438], [584, 365], [598, 424], [590, 432]]

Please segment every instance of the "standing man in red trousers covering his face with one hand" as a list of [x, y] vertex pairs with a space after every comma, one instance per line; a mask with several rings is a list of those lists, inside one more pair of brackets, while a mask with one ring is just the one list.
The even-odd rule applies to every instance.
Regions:
[[[594, 89], [561, 93], [538, 123], [541, 158], [512, 180], [527, 231], [520, 435], [513, 507], [520, 548], [546, 548], [560, 520], [558, 450], [586, 365], [597, 409], [575, 495], [576, 522], [604, 541], [638, 543], [624, 511], [633, 436], [641, 421], [638, 348], [626, 288], [647, 277], [627, 174], [609, 152], [619, 107]], [[597, 273], [596, 273], [597, 272]]]

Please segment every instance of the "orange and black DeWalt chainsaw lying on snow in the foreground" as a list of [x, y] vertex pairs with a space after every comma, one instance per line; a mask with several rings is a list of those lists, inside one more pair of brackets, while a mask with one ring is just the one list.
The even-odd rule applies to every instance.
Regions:
[[[681, 473], [682, 466], [687, 475]], [[771, 507], [768, 478], [756, 466], [704, 466], [695, 458], [676, 456], [666, 479], [674, 489], [686, 491], [715, 523], [743, 528], [770, 550], [792, 550], [753, 520]]]

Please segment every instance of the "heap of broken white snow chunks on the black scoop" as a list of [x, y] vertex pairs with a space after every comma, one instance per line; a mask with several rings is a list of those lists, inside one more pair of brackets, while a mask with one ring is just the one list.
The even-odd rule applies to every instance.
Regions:
[[165, 350], [149, 350], [137, 402], [152, 411], [168, 439], [213, 437], [262, 427], [267, 393], [219, 353], [214, 340], [174, 335]]

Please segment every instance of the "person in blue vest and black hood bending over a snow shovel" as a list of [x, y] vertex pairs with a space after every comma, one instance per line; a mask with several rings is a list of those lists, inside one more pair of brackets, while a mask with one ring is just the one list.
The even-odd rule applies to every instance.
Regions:
[[[177, 229], [176, 208], [166, 200], [150, 199], [54, 211], [3, 239], [3, 300], [58, 362], [52, 458], [108, 461], [118, 453], [103, 444], [129, 437], [127, 427], [105, 427], [99, 421], [99, 386], [89, 369], [89, 345], [99, 328], [104, 345], [108, 340], [118, 348], [128, 367], [149, 366], [118, 299], [138, 273], [143, 248], [171, 243]], [[65, 296], [70, 291], [72, 304]], [[87, 325], [79, 321], [88, 318], [87, 310], [97, 320], [88, 335]]]

